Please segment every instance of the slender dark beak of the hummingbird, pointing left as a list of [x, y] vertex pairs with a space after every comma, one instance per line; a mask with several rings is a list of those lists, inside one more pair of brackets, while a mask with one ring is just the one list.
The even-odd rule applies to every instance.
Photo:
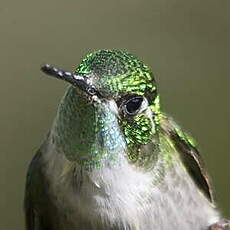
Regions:
[[88, 83], [89, 75], [77, 75], [73, 72], [61, 70], [48, 64], [42, 66], [41, 70], [47, 75], [69, 82], [91, 96], [98, 94], [95, 88]]

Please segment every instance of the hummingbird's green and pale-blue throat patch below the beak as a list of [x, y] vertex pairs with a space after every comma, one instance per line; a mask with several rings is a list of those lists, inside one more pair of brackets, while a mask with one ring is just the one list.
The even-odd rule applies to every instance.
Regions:
[[94, 106], [69, 87], [52, 128], [59, 152], [84, 167], [119, 164], [126, 148], [117, 119], [106, 106]]

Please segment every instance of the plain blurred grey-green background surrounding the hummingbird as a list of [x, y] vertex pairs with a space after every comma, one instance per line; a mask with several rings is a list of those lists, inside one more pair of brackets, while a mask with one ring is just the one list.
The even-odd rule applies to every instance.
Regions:
[[163, 110], [200, 143], [230, 217], [229, 12], [229, 0], [1, 1], [0, 229], [24, 229], [27, 166], [66, 87], [40, 65], [73, 70], [102, 48], [152, 67]]

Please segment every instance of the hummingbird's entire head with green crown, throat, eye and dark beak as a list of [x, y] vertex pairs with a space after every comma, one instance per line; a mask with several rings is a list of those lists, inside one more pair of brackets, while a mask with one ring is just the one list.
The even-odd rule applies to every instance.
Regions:
[[153, 157], [159, 95], [142, 61], [124, 51], [100, 50], [87, 55], [75, 72], [49, 65], [42, 70], [71, 83], [59, 106], [54, 135], [69, 160], [101, 167], [123, 157], [137, 164]]

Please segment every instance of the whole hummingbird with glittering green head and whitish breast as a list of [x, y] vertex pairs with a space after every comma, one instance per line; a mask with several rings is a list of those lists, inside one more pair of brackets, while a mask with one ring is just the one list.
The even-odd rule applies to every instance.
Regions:
[[27, 230], [230, 229], [196, 142], [161, 111], [139, 58], [99, 50], [74, 72], [41, 70], [69, 87], [29, 165]]

